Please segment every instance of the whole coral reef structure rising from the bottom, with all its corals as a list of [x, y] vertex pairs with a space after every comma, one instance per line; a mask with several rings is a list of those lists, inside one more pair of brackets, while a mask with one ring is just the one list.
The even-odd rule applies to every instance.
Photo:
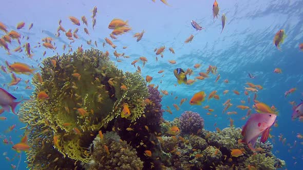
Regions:
[[[276, 169], [270, 142], [252, 152], [241, 129], [204, 130], [186, 111], [163, 120], [161, 95], [139, 73], [119, 70], [107, 53], [86, 50], [44, 59], [32, 99], [18, 116], [27, 125], [29, 169]], [[38, 94], [45, 92], [47, 97]], [[122, 117], [127, 104], [130, 115]], [[172, 126], [181, 133], [167, 133]], [[106, 132], [106, 133], [102, 133]], [[232, 150], [243, 154], [232, 156]]]

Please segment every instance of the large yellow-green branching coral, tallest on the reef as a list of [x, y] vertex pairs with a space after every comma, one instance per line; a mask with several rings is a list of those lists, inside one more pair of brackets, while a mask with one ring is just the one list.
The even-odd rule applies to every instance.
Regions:
[[[148, 90], [143, 77], [123, 73], [99, 50], [55, 55], [42, 64], [44, 82], [33, 78], [34, 99], [23, 104], [19, 117], [27, 123], [31, 140], [44, 135], [43, 141], [53, 144], [63, 158], [89, 162], [91, 134], [120, 116], [124, 103], [129, 105], [132, 122], [144, 113], [142, 102]], [[123, 84], [126, 91], [120, 88]], [[35, 99], [41, 91], [49, 98]], [[59, 138], [58, 145], [53, 143], [54, 136]], [[38, 145], [32, 145], [30, 164], [37, 159]]]

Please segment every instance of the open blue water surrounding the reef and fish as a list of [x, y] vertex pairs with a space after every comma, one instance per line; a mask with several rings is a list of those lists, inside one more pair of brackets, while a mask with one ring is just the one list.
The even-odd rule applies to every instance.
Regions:
[[[303, 133], [303, 122], [299, 120], [292, 121], [291, 113], [292, 106], [290, 101], [300, 102], [303, 99], [303, 52], [299, 50], [298, 45], [303, 42], [303, 1], [220, 1], [219, 18], [213, 19], [212, 6], [213, 1], [167, 1], [171, 6], [166, 6], [160, 1], [153, 3], [152, 1], [5, 1], [2, 2], [2, 10], [0, 11], [0, 22], [8, 27], [8, 31], [16, 30], [17, 23], [24, 21], [25, 27], [18, 30], [22, 35], [28, 36], [29, 39], [23, 39], [22, 44], [29, 42], [31, 47], [37, 45], [37, 42], [42, 38], [51, 36], [56, 44], [56, 51], [46, 50], [45, 57], [52, 56], [55, 53], [62, 54], [63, 44], [68, 45], [69, 41], [61, 32], [60, 37], [55, 37], [56, 29], [58, 28], [59, 19], [62, 19], [62, 25], [65, 29], [75, 29], [78, 26], [73, 25], [69, 16], [81, 18], [85, 15], [88, 19], [88, 30], [90, 35], [86, 35], [83, 31], [83, 26], [79, 27], [78, 35], [80, 39], [72, 44], [73, 50], [83, 45], [83, 49], [94, 47], [93, 42], [98, 42], [98, 49], [102, 51], [108, 50], [112, 60], [116, 61], [112, 55], [114, 49], [106, 44], [102, 47], [104, 37], [109, 38], [112, 30], [107, 28], [113, 18], [121, 18], [128, 20], [132, 30], [124, 35], [118, 36], [118, 40], [113, 40], [113, 43], [118, 46], [118, 53], [124, 52], [130, 58], [122, 58], [122, 62], [116, 62], [118, 68], [124, 71], [136, 71], [130, 63], [145, 56], [148, 62], [142, 68], [142, 62], [138, 65], [142, 69], [142, 76], [152, 76], [151, 83], [159, 84], [159, 90], [167, 90], [169, 95], [162, 98], [163, 109], [170, 107], [173, 114], [167, 112], [163, 117], [166, 120], [173, 120], [179, 117], [181, 113], [187, 110], [198, 112], [205, 119], [205, 129], [215, 131], [214, 124], [218, 128], [223, 129], [228, 127], [229, 118], [235, 120], [236, 127], [242, 127], [245, 120], [241, 117], [246, 115], [246, 111], [236, 108], [241, 104], [241, 100], [247, 101], [247, 96], [243, 94], [246, 82], [260, 84], [263, 90], [258, 92], [257, 100], [275, 105], [279, 110], [277, 117], [278, 126], [273, 127], [271, 135], [274, 137], [269, 139], [273, 144], [273, 153], [280, 159], [286, 160], [288, 169], [299, 169], [302, 167], [302, 139], [296, 138], [297, 133]], [[91, 28], [91, 11], [94, 6], [98, 7], [97, 24], [92, 30]], [[221, 32], [221, 14], [226, 15], [226, 25]], [[205, 27], [205, 30], [196, 31], [191, 26], [191, 20], [195, 20], [199, 25]], [[33, 23], [33, 28], [28, 30], [30, 23]], [[82, 22], [81, 22], [82, 24]], [[145, 33], [142, 40], [136, 42], [136, 38], [132, 35], [136, 32], [141, 32], [144, 29]], [[273, 45], [275, 33], [285, 29], [287, 37], [285, 42], [281, 44], [281, 50]], [[192, 42], [184, 44], [184, 40], [194, 35]], [[0, 31], [0, 35], [4, 32]], [[86, 44], [86, 41], [91, 39], [91, 46]], [[127, 49], [122, 49], [127, 46]], [[156, 62], [155, 48], [165, 46], [163, 53], [164, 57], [158, 56]], [[17, 47], [14, 41], [9, 48], [11, 51]], [[168, 48], [174, 48], [176, 54], [173, 55], [168, 51]], [[67, 48], [68, 49], [68, 48]], [[26, 57], [25, 53], [12, 52], [12, 55], [7, 55], [7, 52], [0, 48], [0, 65], [5, 66], [5, 60], [12, 63], [20, 61], [28, 63], [28, 65], [37, 68], [43, 58], [44, 47], [32, 48], [33, 59]], [[67, 50], [65, 50], [67, 52]], [[24, 57], [24, 59], [22, 58]], [[37, 60], [37, 61], [36, 61]], [[176, 60], [176, 65], [172, 65], [168, 60]], [[200, 63], [201, 67], [194, 69], [195, 63]], [[188, 79], [193, 79], [198, 76], [199, 72], [205, 72], [209, 65], [217, 66], [218, 73], [221, 78], [215, 82], [217, 75], [211, 75], [205, 80], [197, 80], [192, 86], [177, 83], [177, 79], [173, 74], [175, 68], [192, 68], [194, 74]], [[280, 68], [282, 74], [274, 74], [273, 70]], [[162, 74], [157, 72], [164, 70]], [[248, 73], [256, 75], [255, 79], [250, 79]], [[162, 75], [164, 75], [162, 77]], [[29, 98], [33, 90], [25, 90], [27, 84], [25, 80], [31, 79], [32, 76], [17, 75], [21, 77], [22, 82], [17, 86], [9, 88], [9, 92], [17, 99]], [[229, 79], [229, 83], [224, 83], [224, 79]], [[10, 74], [0, 71], [0, 87], [11, 81]], [[160, 83], [162, 81], [162, 83]], [[18, 87], [18, 89], [16, 89]], [[33, 88], [33, 86], [31, 86]], [[7, 89], [7, 86], [4, 86]], [[297, 90], [290, 94], [287, 98], [284, 93], [291, 89]], [[16, 90], [15, 90], [16, 89]], [[220, 100], [212, 99], [210, 102], [204, 101], [204, 105], [210, 105], [214, 109], [212, 115], [206, 115], [207, 111], [199, 105], [190, 105], [188, 100], [193, 94], [199, 91], [205, 91], [209, 94], [213, 90], [217, 90]], [[230, 90], [226, 95], [223, 95], [224, 90]], [[237, 90], [240, 95], [234, 94], [232, 91]], [[173, 95], [171, 95], [171, 93]], [[177, 99], [175, 97], [178, 96]], [[251, 99], [253, 94], [250, 93]], [[179, 111], [173, 107], [173, 103], [180, 103], [182, 98], [187, 98]], [[236, 111], [237, 115], [228, 116], [222, 114], [223, 105], [227, 99], [231, 99], [232, 108], [228, 111]], [[252, 107], [253, 103], [245, 103]], [[215, 117], [214, 115], [217, 115]], [[8, 119], [1, 121], [0, 132], [1, 140], [6, 136], [12, 137], [12, 142], [20, 142], [20, 135], [25, 125], [18, 121], [17, 117], [12, 113], [5, 112], [1, 116], [6, 116]], [[16, 128], [5, 133], [8, 126], [16, 124]], [[279, 141], [279, 135], [286, 138], [286, 143]], [[296, 145], [294, 142], [296, 141]], [[12, 161], [7, 161], [5, 157], [12, 159], [16, 152], [11, 149], [11, 144], [0, 144], [1, 155], [7, 152], [7, 156], [0, 156], [0, 162], [3, 169], [11, 168], [11, 164], [17, 165], [19, 159], [17, 157]], [[21, 155], [21, 164], [19, 169], [26, 169], [25, 153]]]

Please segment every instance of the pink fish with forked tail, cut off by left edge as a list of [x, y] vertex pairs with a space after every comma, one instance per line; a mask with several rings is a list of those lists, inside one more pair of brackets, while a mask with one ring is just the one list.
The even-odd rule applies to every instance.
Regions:
[[16, 115], [15, 113], [15, 108], [16, 106], [22, 102], [23, 99], [21, 101], [15, 102], [14, 100], [17, 99], [15, 98], [13, 95], [11, 95], [10, 93], [8, 93], [6, 90], [0, 88], [0, 105], [1, 107], [5, 110], [9, 112], [9, 107], [11, 107], [12, 112]]

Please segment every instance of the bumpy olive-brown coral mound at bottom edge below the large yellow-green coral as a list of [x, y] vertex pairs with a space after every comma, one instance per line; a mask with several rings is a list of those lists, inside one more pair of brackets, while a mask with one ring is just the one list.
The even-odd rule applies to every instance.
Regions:
[[[108, 153], [105, 150], [108, 147]], [[93, 148], [93, 149], [92, 149]], [[86, 169], [142, 169], [143, 162], [137, 152], [126, 141], [117, 141], [111, 138], [100, 139], [97, 136], [91, 147], [91, 161]]]

